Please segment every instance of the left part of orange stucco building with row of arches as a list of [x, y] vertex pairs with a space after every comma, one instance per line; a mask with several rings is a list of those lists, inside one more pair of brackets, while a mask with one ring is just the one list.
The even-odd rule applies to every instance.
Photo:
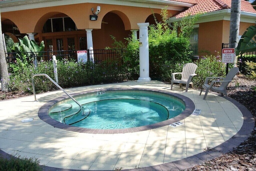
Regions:
[[[137, 23], [154, 22], [152, 12], [160, 19], [165, 6], [170, 14], [176, 14], [192, 5], [166, 0], [0, 1], [3, 33], [12, 37], [28, 34], [36, 41], [44, 40], [46, 49], [55, 51], [104, 49], [113, 43], [110, 35], [124, 41], [137, 33]], [[96, 15], [97, 7], [100, 11]], [[90, 16], [97, 16], [97, 20]]]

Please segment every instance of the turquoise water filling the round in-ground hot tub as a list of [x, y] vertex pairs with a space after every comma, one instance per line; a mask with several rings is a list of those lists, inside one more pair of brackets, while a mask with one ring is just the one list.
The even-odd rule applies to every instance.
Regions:
[[59, 122], [92, 129], [123, 129], [162, 122], [179, 115], [185, 104], [167, 94], [117, 90], [75, 97], [84, 106], [85, 116], [72, 100], [64, 100], [50, 109]]

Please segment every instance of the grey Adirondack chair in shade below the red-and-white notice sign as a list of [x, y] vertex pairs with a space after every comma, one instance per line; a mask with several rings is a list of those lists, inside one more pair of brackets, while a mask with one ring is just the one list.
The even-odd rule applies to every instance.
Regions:
[[[219, 93], [221, 93], [222, 96], [223, 96], [223, 94], [228, 96], [227, 92], [226, 92], [227, 86], [232, 81], [232, 79], [236, 76], [237, 73], [238, 73], [238, 67], [233, 67], [232, 69], [230, 69], [230, 71], [228, 72], [228, 74], [226, 75], [225, 78], [222, 78], [222, 77], [207, 77], [204, 81], [204, 85], [202, 85], [201, 92], [200, 92], [199, 95], [201, 95], [202, 90], [205, 89], [206, 92], [204, 94], [204, 100], [206, 99], [206, 96], [207, 96], [209, 90], [219, 92]], [[209, 84], [208, 83], [209, 79], [215, 79], [215, 80], [213, 80]], [[214, 83], [221, 83], [221, 85], [220, 86], [213, 86]]]

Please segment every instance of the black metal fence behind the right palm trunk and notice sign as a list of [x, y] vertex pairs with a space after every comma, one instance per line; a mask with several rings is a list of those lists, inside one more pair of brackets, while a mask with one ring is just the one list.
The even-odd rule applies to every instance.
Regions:
[[[229, 48], [228, 43], [222, 43], [222, 49]], [[237, 65], [239, 67], [239, 71], [244, 73], [244, 67], [246, 61], [256, 62], [256, 51], [255, 52], [246, 52], [237, 57]]]

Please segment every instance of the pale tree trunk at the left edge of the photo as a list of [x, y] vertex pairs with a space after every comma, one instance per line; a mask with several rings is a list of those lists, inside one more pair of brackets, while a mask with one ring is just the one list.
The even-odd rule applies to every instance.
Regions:
[[[1, 18], [1, 12], [0, 12]], [[6, 85], [8, 84], [10, 78], [6, 63], [6, 57], [4, 53], [4, 42], [2, 37], [2, 23], [0, 22], [0, 77], [1, 77], [1, 84], [2, 84], [2, 91], [8, 91]]]

